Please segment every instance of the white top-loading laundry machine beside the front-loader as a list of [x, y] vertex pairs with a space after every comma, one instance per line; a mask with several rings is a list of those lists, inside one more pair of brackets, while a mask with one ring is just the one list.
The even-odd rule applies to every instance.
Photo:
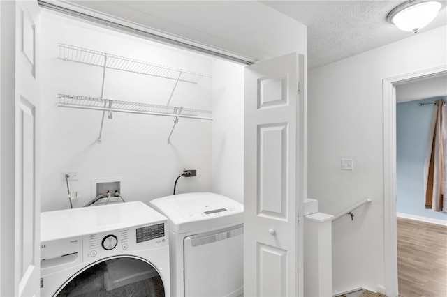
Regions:
[[166, 215], [173, 296], [240, 296], [244, 291], [244, 206], [209, 192], [154, 199]]

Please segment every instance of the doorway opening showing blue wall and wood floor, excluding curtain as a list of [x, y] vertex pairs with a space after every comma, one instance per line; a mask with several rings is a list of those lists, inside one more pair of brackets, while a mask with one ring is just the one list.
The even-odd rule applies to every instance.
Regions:
[[[447, 214], [425, 209], [423, 172], [434, 102], [446, 75], [396, 86], [397, 273], [401, 296], [444, 294]], [[434, 277], [431, 271], [439, 271]]]

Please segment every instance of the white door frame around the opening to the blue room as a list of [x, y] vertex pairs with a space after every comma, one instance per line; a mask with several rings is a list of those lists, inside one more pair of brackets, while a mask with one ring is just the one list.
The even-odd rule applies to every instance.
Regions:
[[447, 64], [383, 79], [383, 244], [386, 294], [398, 296], [395, 86], [447, 73]]

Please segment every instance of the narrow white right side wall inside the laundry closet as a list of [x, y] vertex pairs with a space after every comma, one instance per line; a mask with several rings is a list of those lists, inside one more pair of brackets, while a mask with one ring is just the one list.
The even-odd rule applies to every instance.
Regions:
[[213, 63], [212, 191], [244, 203], [244, 67]]

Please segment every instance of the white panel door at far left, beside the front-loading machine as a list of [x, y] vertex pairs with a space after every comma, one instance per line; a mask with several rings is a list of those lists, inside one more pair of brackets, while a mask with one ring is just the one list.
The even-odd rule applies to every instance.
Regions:
[[38, 17], [37, 1], [1, 1], [2, 296], [40, 291]]

